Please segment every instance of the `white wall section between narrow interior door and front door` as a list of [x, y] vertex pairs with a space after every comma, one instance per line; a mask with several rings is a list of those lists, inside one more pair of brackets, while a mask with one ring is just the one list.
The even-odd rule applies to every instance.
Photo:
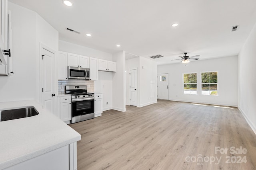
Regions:
[[140, 57], [138, 107], [157, 103], [156, 62]]

